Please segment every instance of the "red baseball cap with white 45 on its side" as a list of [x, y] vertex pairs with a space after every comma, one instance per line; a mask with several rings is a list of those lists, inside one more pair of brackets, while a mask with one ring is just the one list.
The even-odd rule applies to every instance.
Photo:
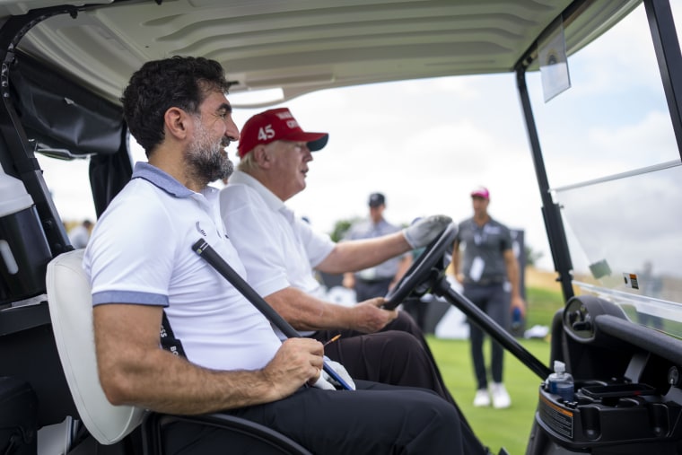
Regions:
[[241, 128], [240, 144], [237, 146], [240, 158], [258, 144], [274, 141], [306, 142], [310, 152], [327, 145], [328, 133], [306, 133], [299, 126], [287, 108], [269, 109], [249, 118]]

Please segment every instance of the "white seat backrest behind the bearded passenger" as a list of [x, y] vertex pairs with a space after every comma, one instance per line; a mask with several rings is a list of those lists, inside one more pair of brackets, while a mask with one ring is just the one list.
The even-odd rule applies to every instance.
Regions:
[[133, 431], [145, 411], [113, 406], [101, 389], [92, 331], [92, 293], [82, 263], [83, 249], [76, 249], [48, 264], [49, 313], [66, 382], [81, 420], [98, 442], [112, 444]]

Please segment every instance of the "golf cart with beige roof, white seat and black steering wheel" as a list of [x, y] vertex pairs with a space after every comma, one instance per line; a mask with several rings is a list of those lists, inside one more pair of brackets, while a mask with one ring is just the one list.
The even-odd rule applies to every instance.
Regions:
[[[277, 88], [277, 102], [363, 83], [515, 74], [565, 301], [551, 322], [550, 358], [529, 354], [450, 288], [442, 258], [451, 230], [390, 300], [442, 296], [537, 374], [528, 455], [682, 453], [682, 57], [673, 3], [0, 3], [0, 452], [162, 453], [165, 424], [197, 419], [252, 438], [258, 453], [308, 453], [240, 419], [111, 407], [99, 389], [82, 251], [70, 244], [41, 162], [87, 160], [103, 213], [132, 173], [118, 101], [129, 76], [151, 59], [193, 55], [220, 61], [231, 93]], [[642, 33], [641, 46], [613, 56], [631, 66], [605, 74], [594, 49], [622, 27]], [[599, 98], [599, 83], [623, 83], [635, 70], [655, 82], [651, 91]], [[566, 115], [576, 106], [589, 128]], [[578, 178], [564, 172], [572, 164]], [[573, 375], [572, 398], [543, 384], [555, 361]]]

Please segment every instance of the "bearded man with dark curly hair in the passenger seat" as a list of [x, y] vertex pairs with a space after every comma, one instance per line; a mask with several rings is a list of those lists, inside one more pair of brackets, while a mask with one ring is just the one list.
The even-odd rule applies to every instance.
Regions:
[[[429, 390], [368, 381], [348, 391], [305, 387], [319, 382], [322, 344], [281, 341], [195, 254], [201, 236], [245, 276], [216, 210], [218, 190], [207, 185], [230, 175], [225, 147], [240, 136], [228, 87], [218, 62], [172, 57], [144, 64], [123, 94], [127, 125], [149, 161], [136, 163], [83, 257], [106, 398], [162, 413], [240, 416], [318, 454], [473, 453], [457, 411]], [[175, 337], [172, 352], [162, 348], [162, 325], [172, 327], [163, 335]], [[220, 424], [179, 421], [164, 433], [167, 453], [258, 451]]]

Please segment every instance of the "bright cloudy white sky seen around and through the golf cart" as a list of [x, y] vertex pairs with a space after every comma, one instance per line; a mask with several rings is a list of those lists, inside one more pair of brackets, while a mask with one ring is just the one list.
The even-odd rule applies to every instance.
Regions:
[[[679, 17], [676, 9], [680, 8], [674, 8]], [[588, 131], [597, 144], [608, 138], [613, 144], [604, 147], [605, 160], [614, 159], [608, 150], [619, 155], [636, 144], [650, 146], [652, 137], [669, 137], [660, 134], [669, 123], [665, 112], [660, 112], [660, 93], [651, 95], [648, 88], [660, 86], [660, 79], [630, 66], [629, 57], [651, 41], [643, 36], [648, 34], [643, 29], [643, 12], [635, 19], [636, 23], [624, 24], [600, 48], [585, 49], [575, 62], [569, 59], [573, 87], [567, 92], [546, 104], [539, 90], [531, 92], [538, 127], [549, 132], [546, 138], [540, 132], [546, 141], [543, 148], [558, 151], [546, 162], [552, 188], [593, 178], [585, 162], [594, 158], [581, 155], [574, 141], [583, 133], [572, 136], [573, 131]], [[608, 62], [608, 75], [598, 72], [597, 61], [600, 65]], [[529, 75], [532, 89], [531, 83], [540, 87], [538, 73]], [[616, 113], [599, 116], [576, 110], [576, 101], [595, 93], [604, 97], [605, 104], [613, 103]], [[331, 232], [339, 220], [367, 216], [367, 199], [375, 191], [386, 196], [385, 217], [391, 223], [410, 223], [429, 214], [447, 214], [459, 222], [471, 216], [469, 194], [482, 185], [490, 190], [489, 213], [523, 230], [526, 245], [543, 255], [538, 267], [553, 268], [514, 74], [333, 89], [303, 95], [282, 106], [291, 109], [304, 130], [329, 133], [328, 145], [313, 153], [307, 188], [287, 201], [320, 232]], [[260, 110], [235, 109], [233, 118], [240, 127]], [[607, 120], [632, 110], [643, 112], [636, 118], [618, 118], [613, 124]], [[619, 130], [624, 121], [627, 127]], [[598, 122], [599, 127], [591, 126]], [[661, 141], [660, 149], [669, 150], [671, 144]], [[227, 152], [236, 162], [234, 144]], [[144, 154], [138, 151], [136, 156]], [[618, 171], [617, 163], [622, 160], [614, 162]], [[40, 163], [64, 221], [94, 219], [88, 163], [45, 158]], [[624, 169], [628, 165], [625, 160]]]

